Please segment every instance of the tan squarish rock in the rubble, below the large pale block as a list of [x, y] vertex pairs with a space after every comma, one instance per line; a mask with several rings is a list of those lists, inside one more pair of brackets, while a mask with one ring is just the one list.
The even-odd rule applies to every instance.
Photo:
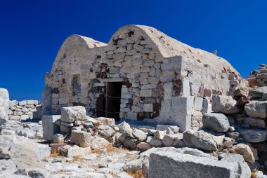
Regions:
[[70, 136], [70, 142], [77, 144], [81, 147], [91, 146], [91, 140], [93, 137], [89, 132], [72, 130], [72, 135]]

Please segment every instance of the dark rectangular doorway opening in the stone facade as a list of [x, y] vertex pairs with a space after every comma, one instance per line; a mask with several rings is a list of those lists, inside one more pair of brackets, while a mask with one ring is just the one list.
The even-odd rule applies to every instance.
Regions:
[[108, 82], [106, 87], [106, 117], [115, 118], [115, 121], [119, 121], [122, 82]]

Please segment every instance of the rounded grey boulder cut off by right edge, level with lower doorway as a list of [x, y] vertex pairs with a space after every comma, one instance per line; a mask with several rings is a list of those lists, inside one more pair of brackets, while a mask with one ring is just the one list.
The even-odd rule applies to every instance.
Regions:
[[245, 111], [255, 118], [266, 118], [267, 102], [251, 101], [245, 105]]

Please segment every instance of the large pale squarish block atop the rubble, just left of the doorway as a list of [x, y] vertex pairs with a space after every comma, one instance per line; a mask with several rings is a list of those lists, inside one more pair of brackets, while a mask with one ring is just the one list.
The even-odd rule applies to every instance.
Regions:
[[73, 123], [74, 121], [86, 120], [86, 110], [84, 107], [63, 107], [61, 109], [61, 121]]

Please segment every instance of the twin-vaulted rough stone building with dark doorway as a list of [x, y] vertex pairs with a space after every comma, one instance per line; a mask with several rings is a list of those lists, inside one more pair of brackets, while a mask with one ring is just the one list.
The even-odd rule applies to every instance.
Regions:
[[152, 27], [126, 25], [108, 44], [79, 35], [64, 41], [45, 76], [43, 109], [51, 115], [81, 105], [93, 117], [153, 118], [197, 130], [211, 95], [233, 95], [240, 80], [221, 57]]

